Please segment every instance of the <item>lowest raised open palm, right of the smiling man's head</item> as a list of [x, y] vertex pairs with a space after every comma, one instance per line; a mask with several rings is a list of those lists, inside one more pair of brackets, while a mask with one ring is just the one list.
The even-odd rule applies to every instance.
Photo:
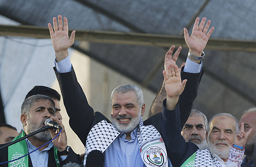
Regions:
[[165, 90], [167, 93], [166, 108], [174, 110], [178, 103], [180, 94], [185, 88], [187, 79], [181, 81], [180, 71], [177, 65], [170, 64], [167, 66], [167, 71], [162, 72], [165, 78]]

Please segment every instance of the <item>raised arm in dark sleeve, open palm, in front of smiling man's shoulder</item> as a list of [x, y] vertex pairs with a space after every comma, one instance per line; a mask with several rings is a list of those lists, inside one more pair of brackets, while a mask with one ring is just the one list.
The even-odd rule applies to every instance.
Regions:
[[177, 103], [187, 80], [181, 81], [177, 65], [171, 64], [167, 69], [163, 72], [167, 96], [163, 103], [161, 136], [165, 141], [168, 158], [173, 166], [178, 166], [185, 154], [187, 145], [180, 134], [180, 112]]

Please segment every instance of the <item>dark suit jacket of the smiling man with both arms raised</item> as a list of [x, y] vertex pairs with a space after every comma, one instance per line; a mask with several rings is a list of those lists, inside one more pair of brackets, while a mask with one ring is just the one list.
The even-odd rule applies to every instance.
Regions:
[[[55, 70], [55, 67], [54, 67], [54, 70]], [[83, 92], [83, 89], [80, 87], [77, 81], [73, 67], [72, 67], [72, 70], [68, 73], [57, 73], [57, 71], [55, 70], [55, 74], [56, 74], [57, 80], [59, 81], [63, 102], [65, 105], [67, 114], [69, 116], [69, 125], [71, 126], [73, 131], [77, 134], [77, 136], [85, 146], [86, 138], [87, 138], [87, 135], [89, 134], [90, 129], [94, 125], [96, 125], [98, 122], [102, 120], [107, 120], [107, 119], [104, 115], [102, 115], [99, 112], [94, 113], [94, 110], [88, 104], [88, 101]], [[188, 79], [185, 89], [179, 99], [178, 109], [180, 109], [180, 113], [181, 113], [179, 120], [181, 119], [180, 126], [182, 127], [187, 121], [189, 114], [191, 112], [193, 101], [197, 96], [197, 89], [199, 87], [199, 83], [201, 81], [202, 75], [203, 75], [203, 72], [198, 74], [191, 74], [191, 73], [185, 73], [182, 71], [181, 73], [182, 80]], [[144, 125], [154, 125], [158, 130], [158, 132], [162, 135], [161, 120], [162, 120], [162, 115], [161, 113], [158, 113], [148, 118], [146, 121], [144, 121]], [[107, 121], [110, 123], [109, 120]], [[167, 120], [166, 123], [169, 123], [169, 120]], [[165, 128], [165, 132], [170, 132], [170, 130]], [[169, 149], [167, 149], [167, 153], [168, 153], [168, 157], [170, 157], [169, 152], [170, 152], [170, 149], [172, 148], [170, 147], [168, 148]]]

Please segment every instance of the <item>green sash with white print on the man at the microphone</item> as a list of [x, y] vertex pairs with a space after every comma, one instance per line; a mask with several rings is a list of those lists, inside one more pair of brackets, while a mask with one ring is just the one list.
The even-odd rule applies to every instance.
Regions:
[[[21, 137], [24, 137], [26, 134], [23, 131], [20, 135], [18, 135], [14, 140], [17, 140]], [[13, 140], [13, 141], [14, 141]], [[22, 157], [28, 153], [28, 148], [25, 140], [21, 140], [14, 145], [8, 147], [8, 161], [17, 159]], [[54, 147], [54, 159], [56, 162], [57, 167], [60, 167], [60, 161], [57, 155], [57, 149]], [[28, 156], [20, 158], [16, 161], [9, 162], [9, 167], [28, 167]]]

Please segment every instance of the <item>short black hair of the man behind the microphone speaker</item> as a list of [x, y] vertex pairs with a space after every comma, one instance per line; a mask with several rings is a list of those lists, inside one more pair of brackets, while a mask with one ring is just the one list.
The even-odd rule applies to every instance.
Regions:
[[45, 96], [48, 96], [54, 100], [61, 100], [61, 95], [60, 93], [58, 93], [56, 90], [49, 88], [49, 87], [45, 87], [45, 86], [34, 86], [33, 89], [31, 89], [28, 94], [26, 95], [27, 99], [30, 96], [33, 96], [35, 94], [42, 94]]

